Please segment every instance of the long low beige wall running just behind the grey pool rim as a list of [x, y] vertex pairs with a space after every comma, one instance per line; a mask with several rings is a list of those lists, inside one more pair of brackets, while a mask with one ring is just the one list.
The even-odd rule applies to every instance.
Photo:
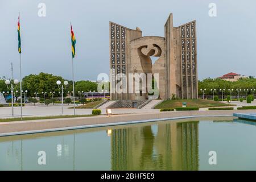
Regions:
[[82, 118], [61, 118], [61, 119], [42, 119], [35, 121], [15, 121], [15, 122], [1, 122], [0, 134], [13, 133], [18, 131], [31, 130], [46, 130], [57, 129], [62, 127], [84, 126], [84, 125], [99, 125], [106, 123], [143, 121], [148, 119], [164, 119], [177, 117], [191, 117], [191, 116], [232, 116], [233, 113], [253, 113], [255, 110], [212, 110], [212, 111], [168, 111], [162, 113], [145, 113], [145, 114], [121, 114], [100, 115], [96, 117], [82, 117]]

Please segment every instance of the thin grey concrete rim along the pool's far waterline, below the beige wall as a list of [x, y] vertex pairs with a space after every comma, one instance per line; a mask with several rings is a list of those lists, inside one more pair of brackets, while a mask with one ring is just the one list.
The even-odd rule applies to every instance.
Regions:
[[28, 130], [28, 131], [16, 131], [16, 132], [11, 132], [11, 133], [0, 133], [0, 137], [8, 137], [8, 136], [13, 136], [13, 135], [36, 134], [36, 133], [48, 133], [48, 132], [65, 131], [65, 130], [89, 129], [89, 128], [94, 128], [94, 127], [129, 125], [129, 124], [168, 121], [168, 120], [176, 120], [176, 119], [202, 118], [202, 117], [233, 117], [233, 115], [230, 115], [230, 114], [229, 115], [188, 115], [188, 116], [183, 116], [183, 117], [158, 118], [158, 119], [146, 119], [146, 120], [138, 120], [138, 121], [101, 123], [101, 124], [94, 124], [94, 125], [58, 127], [58, 128], [53, 128], [53, 129]]

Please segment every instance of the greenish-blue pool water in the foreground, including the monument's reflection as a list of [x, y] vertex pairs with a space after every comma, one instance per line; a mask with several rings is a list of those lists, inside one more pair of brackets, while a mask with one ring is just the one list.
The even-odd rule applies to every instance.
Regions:
[[0, 170], [255, 170], [255, 154], [254, 122], [223, 117], [0, 137]]

